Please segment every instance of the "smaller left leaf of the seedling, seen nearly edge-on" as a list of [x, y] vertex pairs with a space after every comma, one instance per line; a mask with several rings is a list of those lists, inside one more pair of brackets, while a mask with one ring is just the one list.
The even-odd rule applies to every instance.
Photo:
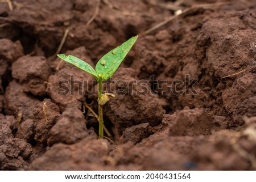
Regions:
[[87, 62], [84, 62], [84, 61], [80, 60], [79, 58], [77, 58], [75, 56], [71, 56], [71, 55], [65, 56], [64, 54], [57, 54], [57, 56], [59, 58], [61, 58], [61, 60], [67, 61], [70, 64], [75, 65], [76, 67], [79, 67], [81, 70], [86, 71], [87, 73], [93, 75], [93, 77], [98, 79], [98, 74], [93, 69], [93, 67], [90, 66]]

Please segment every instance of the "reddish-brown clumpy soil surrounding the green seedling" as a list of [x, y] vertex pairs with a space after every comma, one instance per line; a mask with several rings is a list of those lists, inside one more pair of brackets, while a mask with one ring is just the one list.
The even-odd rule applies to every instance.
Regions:
[[[0, 169], [256, 170], [255, 1], [99, 2], [0, 2]], [[94, 66], [135, 35], [97, 139], [97, 83], [56, 51]]]

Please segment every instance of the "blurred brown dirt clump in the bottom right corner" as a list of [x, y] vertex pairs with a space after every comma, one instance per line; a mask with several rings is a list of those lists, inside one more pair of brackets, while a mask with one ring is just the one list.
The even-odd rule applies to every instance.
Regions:
[[[202, 143], [191, 156], [197, 163], [197, 170], [255, 170], [255, 141], [248, 141], [245, 136], [239, 137], [227, 130], [213, 137], [210, 145]], [[247, 146], [250, 146], [249, 150]]]

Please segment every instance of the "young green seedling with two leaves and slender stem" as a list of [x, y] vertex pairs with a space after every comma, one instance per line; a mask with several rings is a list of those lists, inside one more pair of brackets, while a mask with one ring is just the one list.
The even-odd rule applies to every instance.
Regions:
[[80, 60], [75, 56], [65, 56], [64, 54], [57, 54], [61, 60], [67, 61], [76, 67], [79, 67], [81, 70], [86, 71], [87, 73], [93, 75], [98, 82], [98, 117], [99, 117], [99, 133], [98, 138], [103, 138], [104, 136], [104, 121], [103, 121], [103, 113], [102, 106], [105, 105], [109, 101], [109, 96], [114, 97], [113, 94], [105, 93], [102, 94], [102, 82], [108, 80], [115, 71], [118, 69], [127, 53], [131, 49], [131, 47], [136, 42], [138, 36], [132, 37], [127, 40], [122, 45], [118, 46], [110, 50], [110, 52], [106, 53], [96, 64], [95, 69], [90, 66], [87, 62]]

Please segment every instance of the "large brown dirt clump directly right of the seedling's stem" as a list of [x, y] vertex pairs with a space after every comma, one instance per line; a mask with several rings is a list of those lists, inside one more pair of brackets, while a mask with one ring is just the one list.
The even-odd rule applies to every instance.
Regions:
[[[165, 111], [157, 95], [152, 95], [151, 88], [144, 82], [137, 81], [135, 71], [131, 68], [120, 68], [113, 75], [115, 98], [110, 99], [105, 107], [105, 116], [114, 124], [119, 134], [125, 128], [148, 122], [151, 126], [159, 125]], [[125, 103], [125, 104], [123, 104]], [[146, 105], [144, 103], [147, 103]], [[152, 112], [157, 111], [157, 112]]]

